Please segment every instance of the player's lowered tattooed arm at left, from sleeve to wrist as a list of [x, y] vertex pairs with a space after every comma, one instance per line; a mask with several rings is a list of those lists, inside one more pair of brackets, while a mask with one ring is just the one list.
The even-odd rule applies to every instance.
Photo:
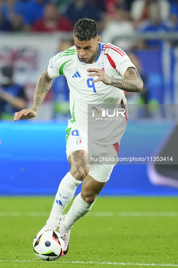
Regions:
[[33, 111], [35, 111], [36, 113], [38, 112], [39, 107], [42, 104], [42, 101], [44, 100], [51, 86], [52, 86], [52, 79], [49, 77], [48, 71], [45, 70], [38, 79], [38, 82], [36, 84], [35, 95], [33, 99], [33, 107], [32, 107]]

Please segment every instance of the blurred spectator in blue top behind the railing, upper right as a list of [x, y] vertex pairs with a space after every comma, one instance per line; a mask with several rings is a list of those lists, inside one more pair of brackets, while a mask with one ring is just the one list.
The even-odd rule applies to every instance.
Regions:
[[[172, 24], [161, 17], [160, 1], [152, 0], [148, 3], [148, 19], [141, 22], [139, 32], [168, 32], [172, 29]], [[160, 40], [148, 40], [147, 46], [160, 47]]]

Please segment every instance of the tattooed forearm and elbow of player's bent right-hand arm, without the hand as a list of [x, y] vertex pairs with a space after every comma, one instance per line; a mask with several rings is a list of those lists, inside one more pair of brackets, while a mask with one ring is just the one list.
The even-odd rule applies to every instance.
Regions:
[[137, 70], [133, 67], [129, 67], [126, 72], [128, 77], [123, 79], [111, 78], [111, 86], [115, 86], [127, 92], [140, 92], [143, 88], [143, 82]]

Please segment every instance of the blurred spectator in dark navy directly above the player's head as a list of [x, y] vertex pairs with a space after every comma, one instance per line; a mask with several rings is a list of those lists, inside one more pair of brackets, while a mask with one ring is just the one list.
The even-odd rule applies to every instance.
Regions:
[[68, 5], [65, 15], [73, 25], [82, 18], [89, 18], [97, 22], [101, 19], [101, 13], [97, 6], [89, 0], [73, 0]]

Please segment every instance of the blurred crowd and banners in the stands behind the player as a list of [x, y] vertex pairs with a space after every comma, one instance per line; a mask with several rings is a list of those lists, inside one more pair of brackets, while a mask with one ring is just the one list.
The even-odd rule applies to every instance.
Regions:
[[[52, 56], [74, 45], [73, 26], [80, 18], [94, 19], [101, 42], [125, 50], [138, 69], [144, 89], [126, 93], [128, 103], [178, 103], [177, 0], [0, 0], [1, 120], [31, 108], [40, 74]], [[69, 89], [61, 76], [37, 120], [66, 118]]]

